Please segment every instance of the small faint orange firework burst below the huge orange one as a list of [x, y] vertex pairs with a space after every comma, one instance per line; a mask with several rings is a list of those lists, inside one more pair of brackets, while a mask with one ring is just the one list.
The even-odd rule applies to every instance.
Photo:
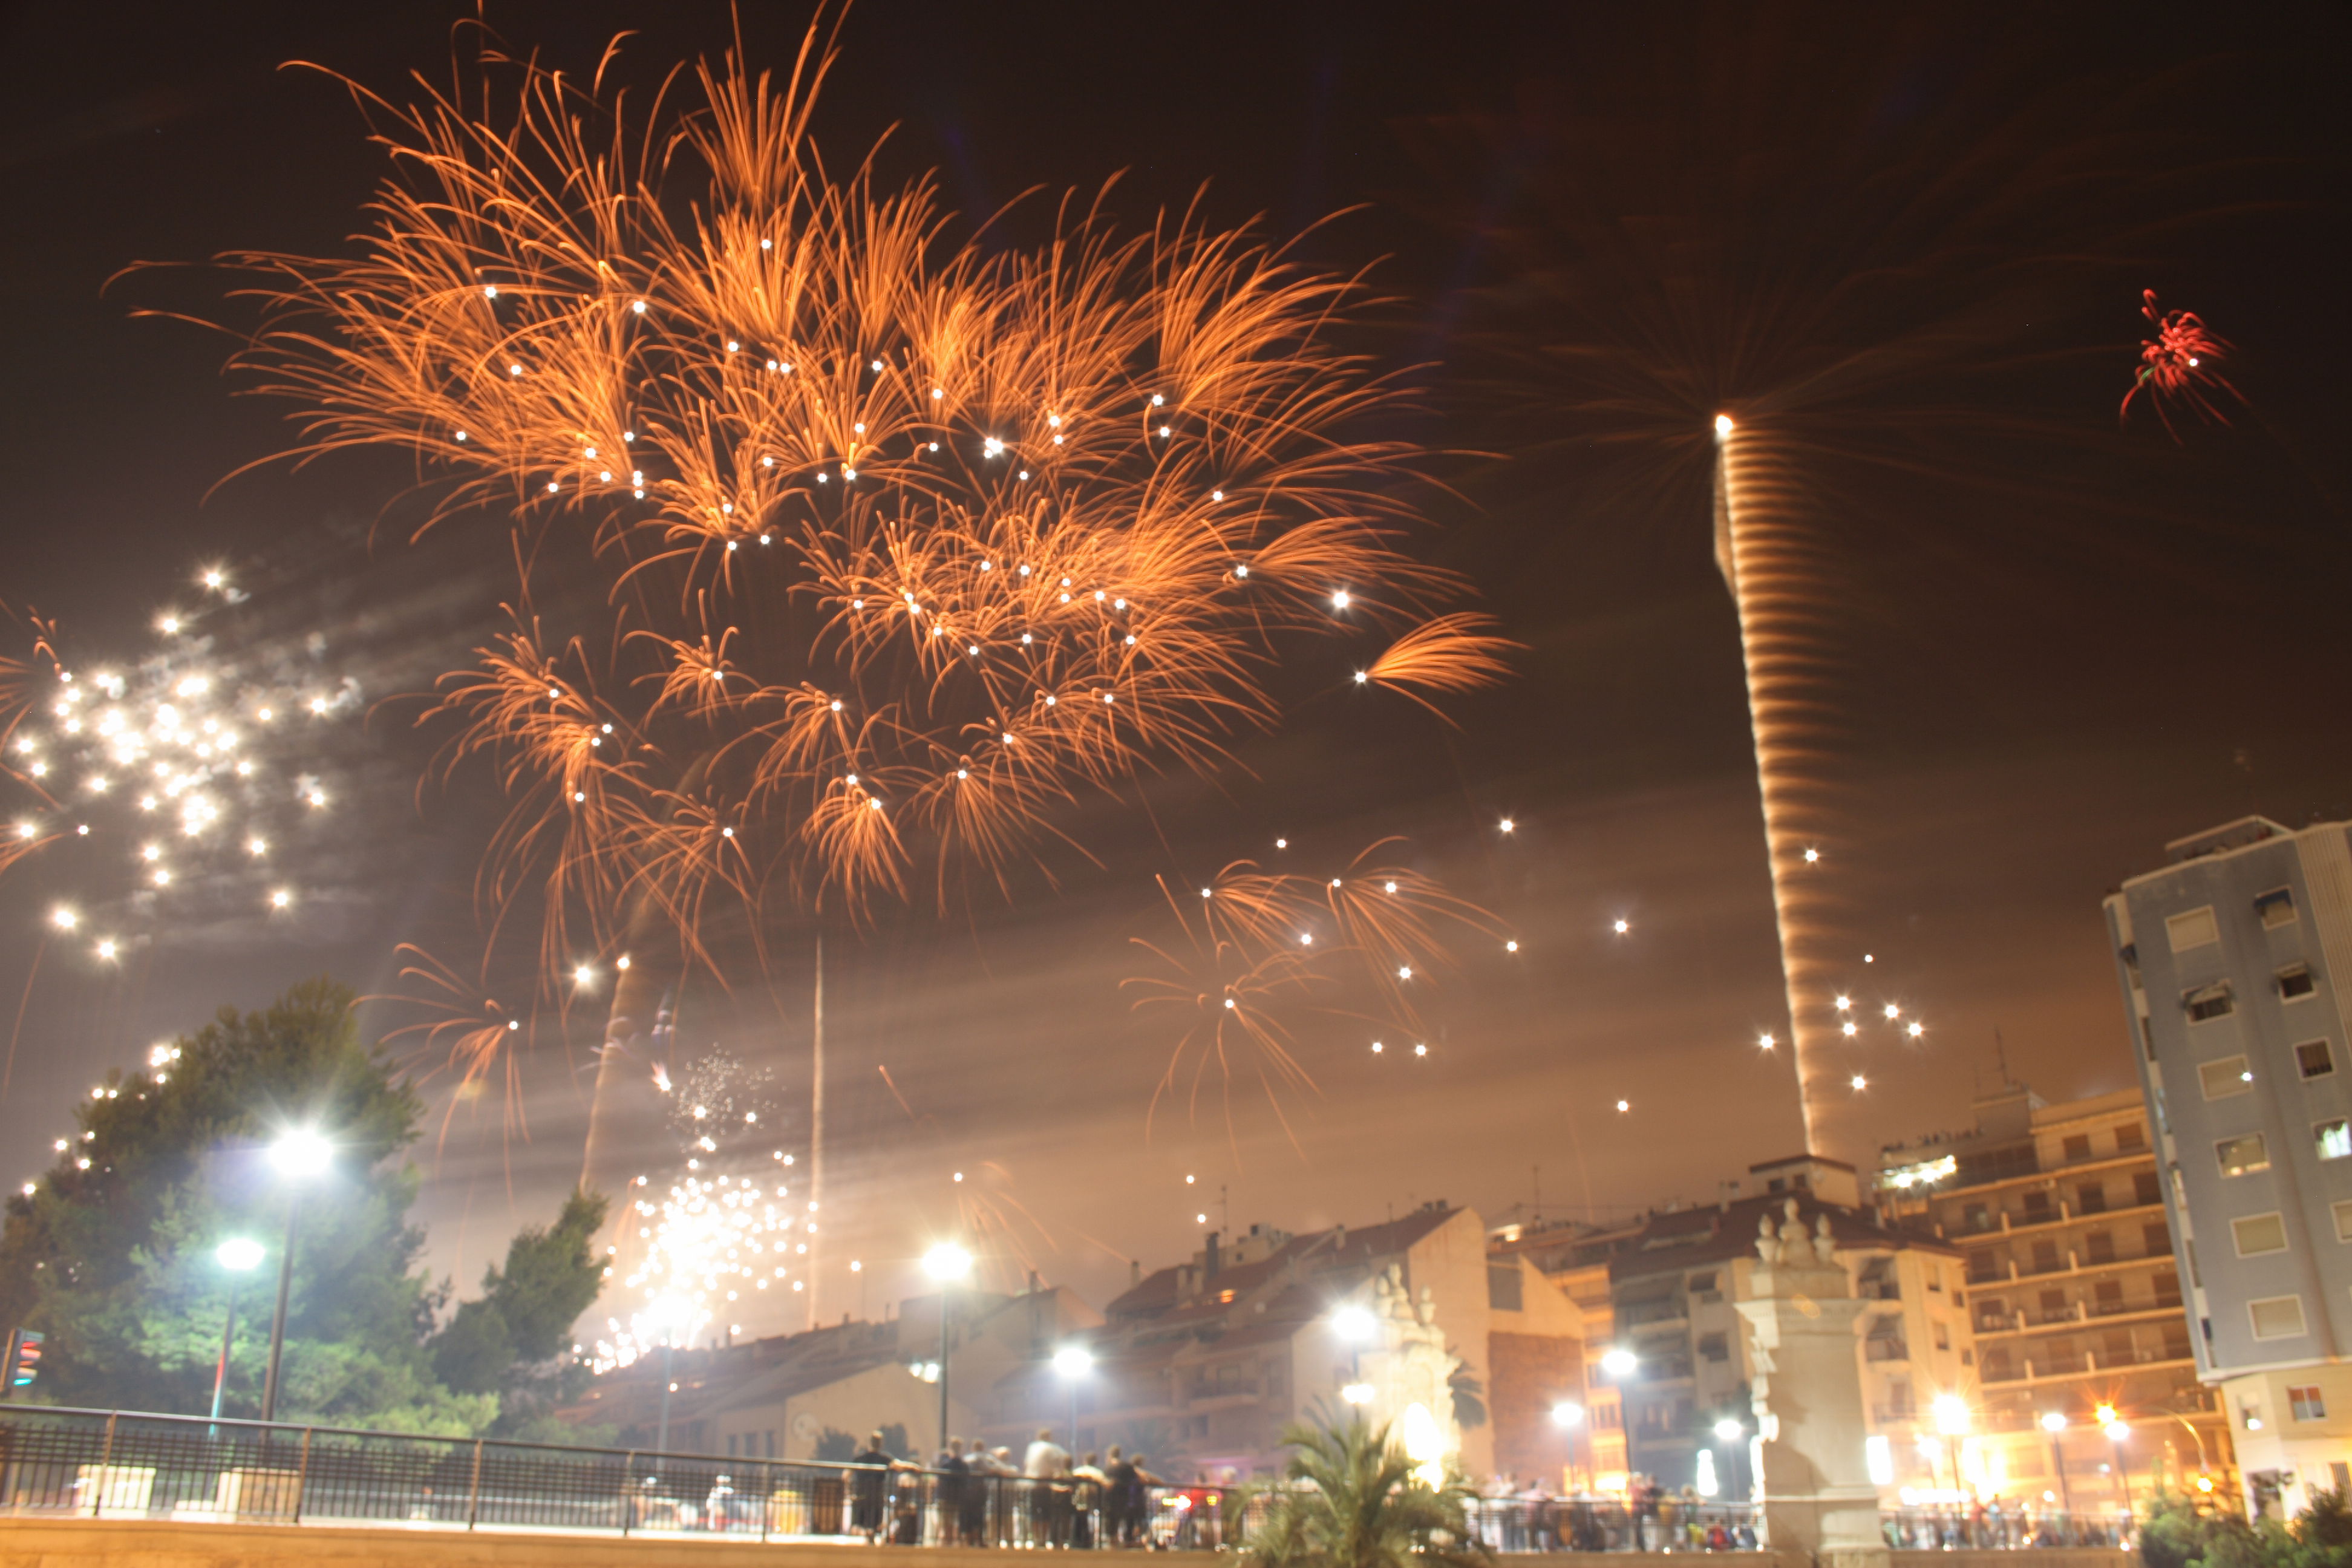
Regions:
[[1315, 1077], [1294, 1051], [1282, 1009], [1357, 985], [1371, 994], [1367, 1009], [1343, 1009], [1406, 1032], [1423, 1032], [1414, 990], [1451, 966], [1442, 933], [1465, 929], [1498, 936], [1486, 910], [1446, 893], [1409, 865], [1383, 865], [1399, 839], [1381, 839], [1338, 877], [1265, 872], [1256, 860], [1235, 860], [1200, 889], [1160, 877], [1160, 893], [1176, 917], [1181, 940], [1134, 938], [1160, 961], [1160, 973], [1136, 976], [1138, 1011], [1174, 1011], [1183, 1032], [1152, 1091], [1152, 1112], [1164, 1095], [1183, 1093], [1190, 1114], [1216, 1070], [1232, 1133], [1232, 1077], [1258, 1079], [1291, 1147], [1298, 1135], [1284, 1093], [1315, 1088]]

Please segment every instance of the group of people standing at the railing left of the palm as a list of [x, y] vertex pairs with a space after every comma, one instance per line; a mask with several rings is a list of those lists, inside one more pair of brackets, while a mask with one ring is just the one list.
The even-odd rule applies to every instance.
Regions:
[[[917, 1467], [894, 1458], [882, 1434], [851, 1460], [849, 1528], [868, 1542], [931, 1547], [1141, 1547], [1152, 1544], [1152, 1493], [1167, 1486], [1141, 1453], [1082, 1460], [1040, 1427], [1021, 1460], [950, 1436]], [[1176, 1528], [1192, 1535], [1204, 1497], [1178, 1493]], [[1190, 1544], [1190, 1542], [1174, 1542]]]

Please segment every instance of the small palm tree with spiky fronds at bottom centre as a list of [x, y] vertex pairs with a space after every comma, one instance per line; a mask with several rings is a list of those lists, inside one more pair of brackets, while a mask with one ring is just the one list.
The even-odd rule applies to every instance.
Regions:
[[1251, 1526], [1251, 1568], [1484, 1568], [1458, 1476], [1432, 1488], [1385, 1425], [1294, 1422], [1284, 1488]]

